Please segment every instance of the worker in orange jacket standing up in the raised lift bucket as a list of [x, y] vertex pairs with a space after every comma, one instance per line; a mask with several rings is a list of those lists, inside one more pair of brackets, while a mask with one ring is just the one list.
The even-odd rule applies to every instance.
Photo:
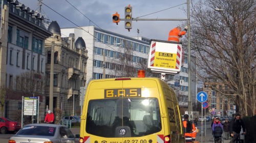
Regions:
[[187, 26], [185, 26], [184, 31], [181, 31], [181, 27], [175, 27], [169, 32], [168, 41], [180, 42], [182, 35], [187, 32]]

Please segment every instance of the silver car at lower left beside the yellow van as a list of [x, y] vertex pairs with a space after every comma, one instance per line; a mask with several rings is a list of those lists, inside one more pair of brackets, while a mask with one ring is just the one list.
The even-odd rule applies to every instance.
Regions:
[[76, 136], [63, 125], [56, 124], [28, 124], [20, 129], [9, 142], [44, 142], [53, 143], [78, 143], [79, 134]]

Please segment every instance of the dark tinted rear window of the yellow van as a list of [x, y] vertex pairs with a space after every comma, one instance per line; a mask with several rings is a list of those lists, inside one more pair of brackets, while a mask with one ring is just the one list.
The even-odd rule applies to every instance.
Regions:
[[157, 98], [109, 98], [90, 100], [87, 111], [87, 133], [101, 137], [144, 136], [159, 132], [160, 109]]

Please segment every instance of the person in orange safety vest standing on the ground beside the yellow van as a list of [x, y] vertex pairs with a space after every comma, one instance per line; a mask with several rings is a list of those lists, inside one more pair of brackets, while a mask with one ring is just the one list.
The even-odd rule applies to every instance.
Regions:
[[[189, 116], [185, 114], [184, 121], [183, 121], [183, 126], [185, 128], [185, 140], [186, 140], [186, 143], [192, 143], [196, 139], [197, 130], [195, 125], [191, 121], [189, 121], [188, 118]], [[191, 126], [191, 127], [188, 127], [188, 126]]]

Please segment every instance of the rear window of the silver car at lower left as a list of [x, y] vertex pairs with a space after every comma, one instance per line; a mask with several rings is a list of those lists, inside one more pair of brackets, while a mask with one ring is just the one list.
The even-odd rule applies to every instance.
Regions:
[[56, 127], [49, 126], [24, 126], [16, 135], [42, 135], [54, 136]]

